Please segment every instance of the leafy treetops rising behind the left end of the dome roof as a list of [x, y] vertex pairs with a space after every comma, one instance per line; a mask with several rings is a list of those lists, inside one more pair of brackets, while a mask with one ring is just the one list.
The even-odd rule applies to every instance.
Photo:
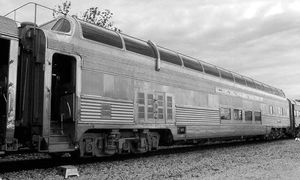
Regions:
[[[53, 11], [53, 17], [56, 17], [59, 14], [67, 15], [71, 9], [71, 2], [65, 1], [62, 5], [57, 5], [55, 7], [56, 11]], [[73, 15], [74, 16], [74, 15]], [[77, 15], [75, 15], [78, 17]], [[121, 32], [121, 30], [114, 26], [112, 22], [113, 13], [109, 9], [99, 10], [98, 7], [90, 7], [85, 10], [85, 12], [79, 17], [86, 22], [95, 24], [100, 27], [104, 27], [106, 29], [111, 29], [117, 32]]]

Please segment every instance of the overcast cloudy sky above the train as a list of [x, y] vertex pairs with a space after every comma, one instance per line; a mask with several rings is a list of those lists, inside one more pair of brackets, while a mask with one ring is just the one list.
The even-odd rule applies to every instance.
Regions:
[[[25, 0], [0, 0], [6, 14]], [[61, 0], [36, 1], [53, 8]], [[300, 0], [73, 0], [110, 9], [122, 32], [282, 89], [300, 99]], [[23, 10], [17, 18], [27, 18]], [[40, 11], [40, 21], [51, 14]]]

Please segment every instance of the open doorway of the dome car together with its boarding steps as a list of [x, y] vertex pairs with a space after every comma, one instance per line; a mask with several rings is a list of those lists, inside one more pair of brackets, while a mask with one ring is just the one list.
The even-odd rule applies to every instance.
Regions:
[[49, 152], [74, 150], [76, 101], [78, 93], [77, 66], [79, 57], [53, 53], [51, 57], [51, 104]]

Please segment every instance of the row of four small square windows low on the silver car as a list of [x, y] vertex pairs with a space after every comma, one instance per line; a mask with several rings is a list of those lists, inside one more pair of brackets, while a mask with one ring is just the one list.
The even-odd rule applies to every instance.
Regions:
[[[221, 120], [232, 120], [231, 112], [233, 112], [233, 120], [242, 121], [243, 120], [243, 110], [241, 109], [233, 109], [231, 108], [220, 108], [220, 119]], [[244, 111], [245, 113], [245, 121], [252, 121], [254, 117], [254, 121], [261, 121], [261, 112], [258, 111]]]

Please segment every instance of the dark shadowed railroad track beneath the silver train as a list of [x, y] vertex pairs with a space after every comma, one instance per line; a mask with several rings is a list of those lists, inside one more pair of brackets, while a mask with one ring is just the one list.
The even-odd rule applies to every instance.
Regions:
[[[114, 155], [107, 157], [99, 158], [79, 158], [74, 159], [72, 157], [61, 157], [61, 158], [39, 158], [39, 159], [25, 159], [25, 160], [14, 160], [12, 157], [9, 160], [2, 159], [0, 160], [0, 173], [6, 172], [17, 172], [22, 170], [32, 170], [32, 169], [48, 169], [55, 168], [62, 165], [81, 165], [95, 162], [107, 162], [107, 161], [122, 161], [133, 158], [140, 157], [150, 157], [156, 155], [168, 155], [168, 154], [177, 154], [177, 153], [187, 153], [191, 151], [199, 150], [209, 150], [216, 148], [226, 148], [234, 146], [244, 146], [244, 145], [253, 145], [258, 143], [267, 143], [271, 141], [232, 141], [225, 143], [213, 143], [213, 144], [203, 144], [203, 145], [177, 145], [172, 147], [161, 147], [157, 151], [152, 151], [143, 154], [123, 154], [123, 155]], [[26, 156], [26, 155], [24, 155]]]

